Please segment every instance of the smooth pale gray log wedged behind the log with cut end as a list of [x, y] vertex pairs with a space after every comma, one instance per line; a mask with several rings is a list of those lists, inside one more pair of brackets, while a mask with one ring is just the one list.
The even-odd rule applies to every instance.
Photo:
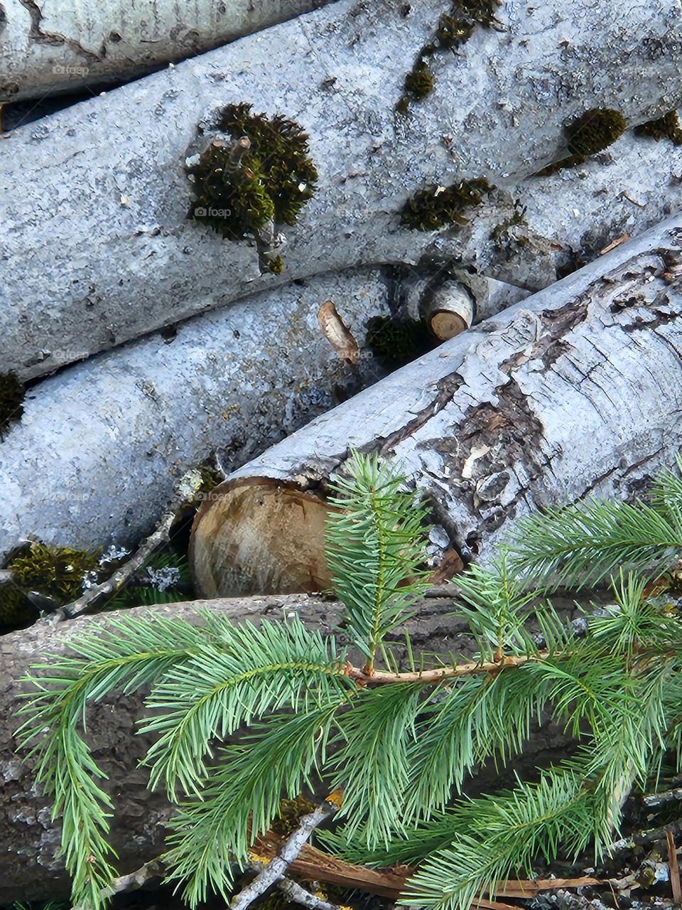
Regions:
[[[133, 543], [174, 482], [212, 452], [232, 470], [384, 376], [364, 342], [389, 294], [377, 270], [319, 276], [38, 383], [0, 442], [0, 554], [29, 534], [87, 548]], [[363, 348], [356, 367], [319, 329], [327, 299]]]

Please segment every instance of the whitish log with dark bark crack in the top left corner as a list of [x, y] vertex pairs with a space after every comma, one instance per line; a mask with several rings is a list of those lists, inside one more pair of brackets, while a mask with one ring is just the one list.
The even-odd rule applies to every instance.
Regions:
[[0, 103], [75, 92], [139, 76], [330, 0], [224, 0], [131, 5], [5, 0], [0, 7]]

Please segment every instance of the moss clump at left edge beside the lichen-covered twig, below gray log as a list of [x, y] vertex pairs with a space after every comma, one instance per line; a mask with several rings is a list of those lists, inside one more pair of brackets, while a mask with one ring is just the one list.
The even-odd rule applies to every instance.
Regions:
[[96, 553], [36, 541], [15, 554], [7, 568], [19, 588], [39, 591], [63, 605], [83, 592], [85, 573], [97, 571], [99, 561]]

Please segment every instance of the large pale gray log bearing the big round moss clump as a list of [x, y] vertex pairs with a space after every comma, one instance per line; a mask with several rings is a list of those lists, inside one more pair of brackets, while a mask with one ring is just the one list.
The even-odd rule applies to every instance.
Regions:
[[[626, 11], [577, 0], [569, 18], [557, 3], [507, 2], [505, 30], [477, 29], [439, 57], [434, 93], [397, 117], [442, 7], [339, 0], [5, 138], [5, 369], [36, 376], [65, 352], [110, 348], [276, 283], [255, 248], [186, 221], [187, 148], [228, 103], [310, 134], [319, 188], [286, 230], [286, 278], [300, 278], [442, 254], [433, 235], [399, 226], [417, 188], [471, 177], [514, 187], [561, 153], [564, 124], [587, 109], [620, 108], [634, 125], [682, 101], [672, 0]], [[450, 251], [462, 243], [454, 232]], [[470, 239], [466, 262], [494, 260], [478, 247]]]

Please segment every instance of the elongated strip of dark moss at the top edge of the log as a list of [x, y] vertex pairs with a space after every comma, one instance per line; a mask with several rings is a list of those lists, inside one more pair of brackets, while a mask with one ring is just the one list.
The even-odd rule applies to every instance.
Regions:
[[454, 0], [449, 13], [438, 19], [434, 39], [424, 45], [416, 57], [416, 63], [405, 77], [403, 95], [397, 103], [398, 114], [406, 114], [407, 108], [415, 101], [430, 95], [434, 87], [434, 76], [426, 63], [436, 51], [456, 50], [466, 44], [474, 34], [476, 25], [485, 28], [496, 25], [496, 9], [501, 0]]

